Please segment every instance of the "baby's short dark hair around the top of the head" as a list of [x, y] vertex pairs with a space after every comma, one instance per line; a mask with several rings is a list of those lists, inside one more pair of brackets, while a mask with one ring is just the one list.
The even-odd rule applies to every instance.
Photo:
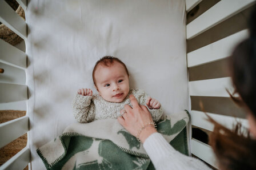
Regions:
[[99, 64], [102, 64], [103, 66], [110, 67], [114, 63], [114, 61], [122, 64], [123, 67], [125, 68], [125, 71], [126, 71], [127, 75], [129, 76], [129, 72], [128, 72], [126, 66], [125, 66], [125, 63], [123, 63], [121, 60], [119, 60], [118, 58], [116, 58], [114, 56], [103, 56], [101, 59], [99, 59], [96, 62], [95, 66], [93, 68], [93, 83], [94, 83], [95, 86], [96, 86], [96, 80], [95, 80], [94, 74], [95, 74], [97, 66]]

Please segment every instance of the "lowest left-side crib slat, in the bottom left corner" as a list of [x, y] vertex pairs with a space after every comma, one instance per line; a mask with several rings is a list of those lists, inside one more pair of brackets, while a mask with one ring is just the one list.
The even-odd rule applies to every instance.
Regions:
[[25, 147], [3, 164], [0, 169], [24, 169], [29, 164], [29, 160], [29, 147]]

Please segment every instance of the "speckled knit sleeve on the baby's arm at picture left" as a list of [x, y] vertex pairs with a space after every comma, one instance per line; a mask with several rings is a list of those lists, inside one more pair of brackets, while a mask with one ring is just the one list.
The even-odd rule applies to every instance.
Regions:
[[91, 100], [93, 96], [75, 95], [73, 101], [73, 114], [77, 122], [89, 123], [95, 118], [95, 105]]

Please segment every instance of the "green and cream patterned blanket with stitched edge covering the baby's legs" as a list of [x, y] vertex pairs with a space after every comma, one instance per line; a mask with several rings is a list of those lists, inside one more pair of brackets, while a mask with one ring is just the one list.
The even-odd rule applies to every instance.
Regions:
[[[157, 131], [179, 152], [188, 155], [187, 111], [162, 116]], [[142, 143], [117, 119], [75, 123], [37, 149], [47, 169], [154, 169]]]

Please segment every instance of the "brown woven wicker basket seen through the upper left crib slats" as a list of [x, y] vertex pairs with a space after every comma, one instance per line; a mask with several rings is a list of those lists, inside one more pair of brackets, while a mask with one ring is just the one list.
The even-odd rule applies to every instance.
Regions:
[[[21, 6], [19, 6], [15, 12], [19, 14], [19, 16], [21, 16], [23, 19], [25, 19], [25, 12]], [[0, 25], [0, 38], [3, 39], [3, 41], [12, 44], [13, 46], [17, 45], [23, 40], [3, 24]]]

